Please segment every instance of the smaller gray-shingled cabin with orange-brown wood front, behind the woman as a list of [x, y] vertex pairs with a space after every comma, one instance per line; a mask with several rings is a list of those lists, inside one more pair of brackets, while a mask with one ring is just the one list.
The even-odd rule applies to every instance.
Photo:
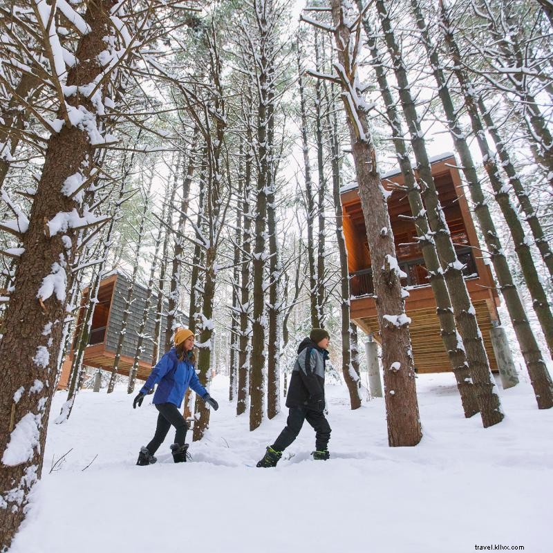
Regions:
[[[106, 274], [100, 282], [98, 290], [98, 302], [92, 318], [92, 327], [88, 336], [88, 346], [84, 350], [83, 364], [86, 366], [103, 368], [110, 371], [115, 359], [119, 336], [122, 328], [123, 311], [125, 309], [126, 294], [131, 285], [129, 277], [122, 272], [113, 272]], [[142, 314], [146, 305], [147, 288], [140, 283], [135, 282], [133, 288], [133, 299], [131, 303], [131, 312], [127, 319], [125, 339], [119, 362], [119, 373], [129, 375], [133, 366], [136, 348], [138, 346], [138, 332], [142, 322]], [[88, 288], [82, 293], [81, 306], [88, 303]], [[153, 332], [156, 326], [156, 309], [158, 296], [151, 295], [149, 316], [146, 324], [145, 334], [147, 338], [142, 341], [142, 355], [138, 364], [138, 378], [145, 380], [152, 367], [153, 355]], [[167, 312], [167, 302], [164, 302], [164, 312]], [[79, 312], [77, 324], [82, 321], [84, 309]], [[178, 320], [183, 326], [188, 324], [188, 317], [178, 314]], [[165, 329], [167, 328], [167, 316], [162, 315], [161, 321], [161, 341], [160, 354], [164, 353]], [[73, 362], [73, 353], [76, 348], [77, 336], [73, 341], [71, 353], [67, 356], [62, 368], [62, 376], [59, 380], [59, 387], [65, 388], [68, 384], [69, 373], [71, 372], [71, 363]]]

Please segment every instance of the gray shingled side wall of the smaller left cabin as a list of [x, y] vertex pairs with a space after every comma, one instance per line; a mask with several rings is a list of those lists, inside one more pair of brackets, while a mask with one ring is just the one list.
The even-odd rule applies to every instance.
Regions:
[[[111, 300], [111, 312], [109, 314], [109, 323], [106, 332], [106, 350], [115, 351], [119, 341], [121, 332], [123, 311], [125, 308], [125, 298], [129, 290], [129, 279], [118, 274], [115, 281], [115, 290], [113, 290], [113, 298]], [[146, 334], [153, 339], [153, 330], [156, 326], [156, 306], [158, 298], [152, 294], [150, 299], [150, 315], [146, 324]], [[142, 322], [142, 312], [146, 305], [146, 288], [135, 284], [133, 291], [133, 302], [131, 303], [131, 313], [126, 323], [126, 335], [123, 342], [122, 355], [134, 357], [136, 347], [138, 346], [138, 330]], [[167, 311], [167, 303], [165, 302], [164, 311]], [[188, 317], [180, 314], [180, 321], [183, 326], [188, 324]], [[165, 336], [165, 328], [167, 326], [167, 317], [162, 316], [162, 336]], [[153, 341], [149, 338], [144, 338], [142, 342], [142, 359], [151, 360], [153, 354]], [[163, 353], [163, 352], [162, 352]]]

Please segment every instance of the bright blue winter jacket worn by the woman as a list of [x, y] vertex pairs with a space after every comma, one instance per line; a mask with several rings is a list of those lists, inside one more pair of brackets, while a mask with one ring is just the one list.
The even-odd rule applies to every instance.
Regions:
[[173, 403], [180, 408], [189, 386], [201, 397], [207, 395], [207, 390], [198, 380], [194, 366], [188, 359], [179, 361], [175, 348], [171, 348], [153, 367], [140, 392], [147, 394], [156, 384], [158, 389], [153, 394], [154, 404]]

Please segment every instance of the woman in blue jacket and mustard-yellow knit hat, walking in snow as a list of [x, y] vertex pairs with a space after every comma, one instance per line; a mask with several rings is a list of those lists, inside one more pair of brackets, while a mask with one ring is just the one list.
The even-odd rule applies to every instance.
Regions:
[[171, 453], [175, 462], [185, 462], [188, 444], [185, 444], [188, 425], [180, 413], [180, 405], [185, 397], [185, 392], [192, 388], [207, 404], [217, 410], [218, 403], [209, 395], [200, 384], [196, 371], [194, 371], [194, 332], [188, 328], [180, 328], [174, 336], [174, 348], [171, 348], [153, 367], [144, 386], [134, 398], [133, 408], [142, 405], [144, 396], [151, 388], [158, 384], [156, 393], [153, 394], [152, 403], [159, 411], [156, 433], [151, 442], [140, 449], [137, 465], [151, 465], [156, 462], [153, 456], [158, 447], [163, 443], [171, 424], [175, 427], [175, 443], [171, 445]]

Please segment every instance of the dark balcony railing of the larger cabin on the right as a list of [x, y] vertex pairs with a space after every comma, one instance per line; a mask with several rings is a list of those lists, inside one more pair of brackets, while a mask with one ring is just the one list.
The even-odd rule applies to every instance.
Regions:
[[[477, 278], [478, 271], [471, 247], [460, 247], [457, 250], [457, 257], [465, 268], [462, 274], [465, 279]], [[409, 259], [406, 261], [398, 261], [400, 269], [406, 273], [407, 277], [402, 279], [402, 286], [415, 288], [418, 286], [428, 286], [428, 272], [424, 265], [422, 257], [418, 259]], [[373, 270], [371, 267], [361, 271], [350, 273], [350, 295], [352, 297], [373, 296], [375, 287], [373, 284]]]

